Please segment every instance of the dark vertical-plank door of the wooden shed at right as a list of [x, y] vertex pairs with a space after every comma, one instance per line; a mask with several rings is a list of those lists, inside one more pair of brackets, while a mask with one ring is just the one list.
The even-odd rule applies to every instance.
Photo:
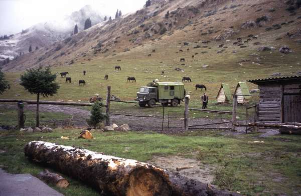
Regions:
[[283, 95], [283, 122], [301, 123], [301, 94]]

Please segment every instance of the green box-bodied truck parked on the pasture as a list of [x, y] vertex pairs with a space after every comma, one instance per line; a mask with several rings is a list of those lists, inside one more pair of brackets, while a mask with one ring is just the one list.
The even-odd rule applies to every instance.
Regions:
[[141, 86], [137, 92], [135, 101], [140, 107], [154, 107], [156, 103], [164, 106], [177, 106], [186, 95], [183, 82], [152, 82], [147, 86]]

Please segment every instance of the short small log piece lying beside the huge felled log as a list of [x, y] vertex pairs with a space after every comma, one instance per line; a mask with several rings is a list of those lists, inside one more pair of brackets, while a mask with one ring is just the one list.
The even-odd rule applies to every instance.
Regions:
[[46, 183], [52, 183], [59, 188], [66, 188], [69, 185], [69, 182], [63, 176], [49, 172], [48, 169], [40, 172], [38, 177]]

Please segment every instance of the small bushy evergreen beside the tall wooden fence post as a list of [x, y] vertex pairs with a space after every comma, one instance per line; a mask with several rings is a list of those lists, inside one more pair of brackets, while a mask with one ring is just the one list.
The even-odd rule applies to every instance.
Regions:
[[94, 129], [96, 125], [106, 119], [106, 115], [102, 112], [103, 104], [99, 101], [96, 101], [91, 110], [90, 119], [87, 119], [89, 126], [93, 126]]

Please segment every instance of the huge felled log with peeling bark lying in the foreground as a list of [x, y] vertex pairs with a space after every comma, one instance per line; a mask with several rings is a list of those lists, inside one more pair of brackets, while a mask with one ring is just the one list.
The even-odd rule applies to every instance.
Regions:
[[239, 195], [209, 188], [202, 182], [148, 163], [90, 150], [32, 141], [25, 145], [24, 151], [32, 160], [53, 166], [108, 195]]

